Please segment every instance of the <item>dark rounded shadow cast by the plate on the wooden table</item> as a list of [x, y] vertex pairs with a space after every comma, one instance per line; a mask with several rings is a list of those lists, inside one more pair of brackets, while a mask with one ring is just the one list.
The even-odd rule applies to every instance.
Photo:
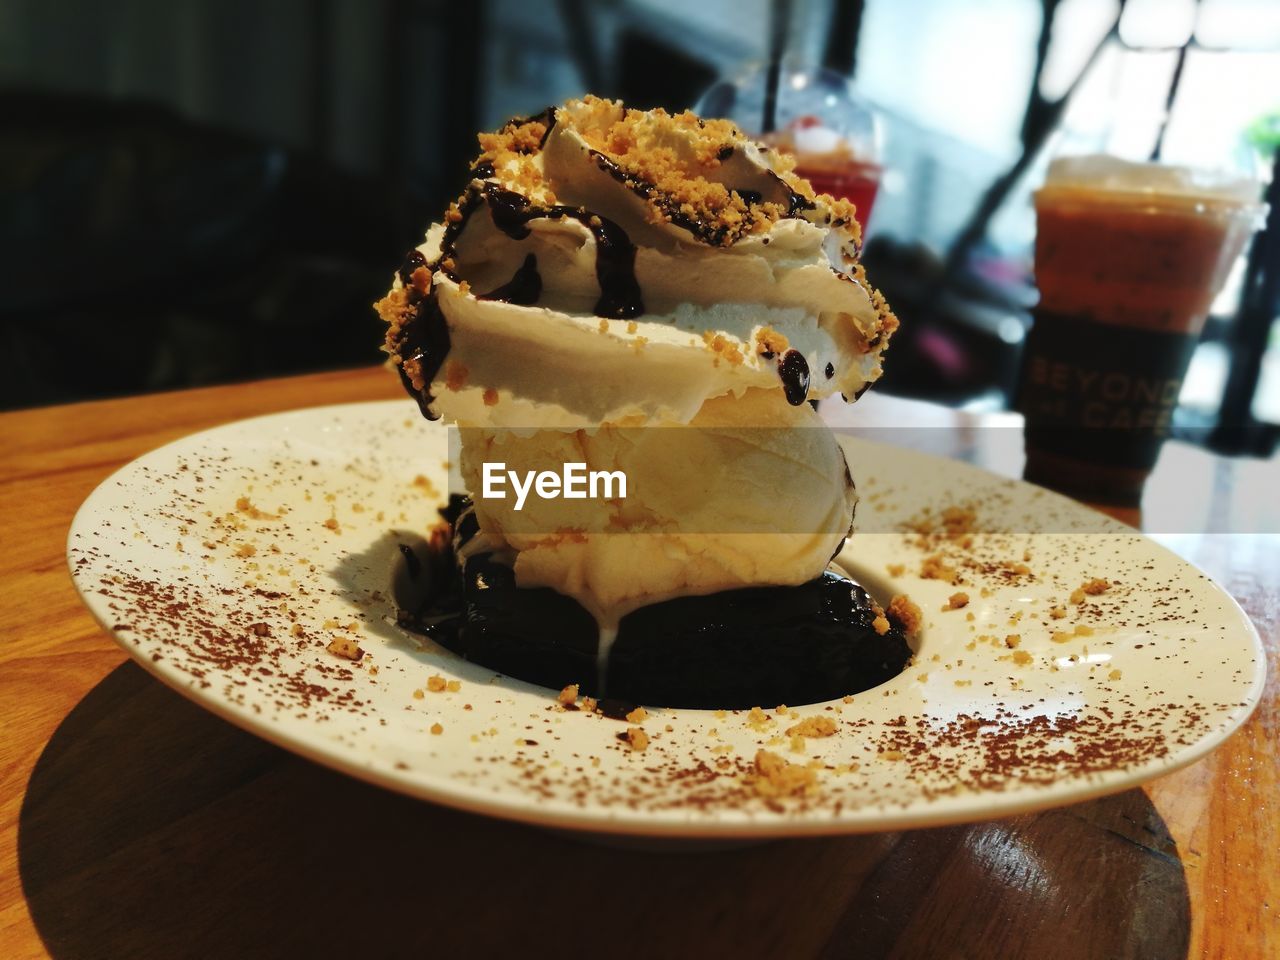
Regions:
[[19, 869], [72, 957], [1183, 957], [1142, 791], [986, 824], [643, 852], [454, 813], [297, 759], [124, 664], [63, 721]]

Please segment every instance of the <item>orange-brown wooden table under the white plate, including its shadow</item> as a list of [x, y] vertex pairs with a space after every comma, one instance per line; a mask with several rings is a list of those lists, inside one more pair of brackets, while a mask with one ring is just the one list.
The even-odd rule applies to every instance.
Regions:
[[[1280, 536], [1248, 532], [1280, 529], [1275, 465], [1171, 448], [1152, 486], [1147, 522], [1266, 637], [1265, 701], [1207, 759], [991, 823], [636, 851], [297, 759], [148, 678], [81, 607], [64, 538], [110, 471], [237, 417], [397, 396], [361, 370], [0, 416], [0, 957], [1280, 956]], [[858, 411], [1018, 468], [1016, 421]]]

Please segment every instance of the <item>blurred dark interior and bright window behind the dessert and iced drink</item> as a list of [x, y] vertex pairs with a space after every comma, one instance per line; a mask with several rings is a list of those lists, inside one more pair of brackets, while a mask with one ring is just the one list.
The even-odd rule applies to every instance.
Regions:
[[[370, 303], [477, 129], [589, 91], [714, 104], [769, 61], [874, 118], [902, 396], [1009, 406], [1053, 156], [1275, 183], [1275, 0], [0, 0], [0, 407], [376, 362]], [[1280, 436], [1275, 219], [1176, 415], [1224, 452]]]

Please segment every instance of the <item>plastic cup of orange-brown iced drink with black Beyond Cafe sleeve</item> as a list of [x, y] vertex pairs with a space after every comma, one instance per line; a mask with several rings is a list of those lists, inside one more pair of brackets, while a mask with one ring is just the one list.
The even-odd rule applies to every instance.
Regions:
[[1028, 480], [1140, 500], [1210, 305], [1261, 221], [1258, 191], [1107, 156], [1050, 166], [1036, 193], [1041, 298], [1018, 392]]

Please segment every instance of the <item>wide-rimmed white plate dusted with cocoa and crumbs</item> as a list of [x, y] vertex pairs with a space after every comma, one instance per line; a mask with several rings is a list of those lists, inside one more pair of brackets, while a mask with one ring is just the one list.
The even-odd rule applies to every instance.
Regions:
[[[84, 502], [68, 554], [118, 643], [220, 717], [392, 790], [558, 828], [772, 837], [1007, 815], [1190, 763], [1257, 703], [1257, 632], [1174, 554], [1038, 488], [847, 443], [859, 526], [873, 532], [855, 535], [841, 563], [881, 602], [904, 593], [923, 608], [915, 663], [849, 701], [785, 716], [762, 704], [765, 724], [650, 709], [643, 753], [617, 739], [627, 724], [566, 712], [553, 691], [389, 622], [390, 531], [425, 530], [447, 485], [447, 431], [406, 403], [260, 417], [154, 451]], [[964, 549], [902, 530], [960, 504], [1006, 532]], [[965, 584], [918, 576], [937, 549]], [[1030, 575], [1001, 566], [1024, 557]], [[1110, 588], [1071, 603], [1093, 577]], [[943, 612], [957, 590], [969, 605]], [[1053, 605], [1066, 616], [1052, 618]], [[1075, 635], [1078, 623], [1092, 635]], [[329, 653], [335, 635], [355, 636], [365, 658]], [[433, 675], [461, 686], [428, 691]], [[785, 730], [815, 714], [837, 733], [792, 753]], [[817, 786], [762, 796], [762, 748], [815, 763]]]

